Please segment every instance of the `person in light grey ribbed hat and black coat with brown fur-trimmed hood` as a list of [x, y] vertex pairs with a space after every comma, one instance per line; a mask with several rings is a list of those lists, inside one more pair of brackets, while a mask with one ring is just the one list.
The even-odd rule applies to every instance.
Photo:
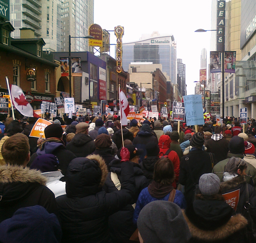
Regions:
[[192, 235], [189, 243], [248, 242], [247, 220], [226, 203], [220, 194], [220, 183], [212, 173], [200, 177], [200, 192], [183, 213]]

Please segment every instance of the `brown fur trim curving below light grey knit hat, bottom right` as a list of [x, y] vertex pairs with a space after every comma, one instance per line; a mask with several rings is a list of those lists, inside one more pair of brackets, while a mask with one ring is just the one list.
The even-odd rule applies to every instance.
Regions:
[[245, 226], [248, 224], [245, 217], [243, 217], [241, 214], [236, 214], [232, 216], [230, 220], [220, 228], [215, 230], [201, 230], [190, 222], [184, 210], [182, 210], [182, 213], [185, 220], [187, 221], [192, 237], [204, 241], [218, 241], [225, 239], [235, 232], [245, 228]]

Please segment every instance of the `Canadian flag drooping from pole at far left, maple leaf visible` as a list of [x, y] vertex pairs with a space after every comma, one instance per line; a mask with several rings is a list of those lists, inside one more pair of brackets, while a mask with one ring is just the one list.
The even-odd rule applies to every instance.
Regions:
[[13, 106], [26, 117], [40, 117], [33, 111], [33, 107], [28, 103], [22, 89], [17, 85], [11, 85], [11, 100]]

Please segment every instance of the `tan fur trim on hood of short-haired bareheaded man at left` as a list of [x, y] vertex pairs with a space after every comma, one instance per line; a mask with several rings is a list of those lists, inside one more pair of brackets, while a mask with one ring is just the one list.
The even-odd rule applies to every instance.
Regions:
[[32, 182], [46, 185], [46, 177], [40, 171], [30, 170], [28, 167], [4, 165], [0, 166], [0, 183]]

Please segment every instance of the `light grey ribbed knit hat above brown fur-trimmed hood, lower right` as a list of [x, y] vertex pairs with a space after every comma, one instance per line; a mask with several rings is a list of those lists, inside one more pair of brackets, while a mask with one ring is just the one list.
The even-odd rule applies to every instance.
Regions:
[[213, 195], [220, 190], [220, 179], [213, 173], [201, 175], [199, 179], [199, 189], [203, 195]]

